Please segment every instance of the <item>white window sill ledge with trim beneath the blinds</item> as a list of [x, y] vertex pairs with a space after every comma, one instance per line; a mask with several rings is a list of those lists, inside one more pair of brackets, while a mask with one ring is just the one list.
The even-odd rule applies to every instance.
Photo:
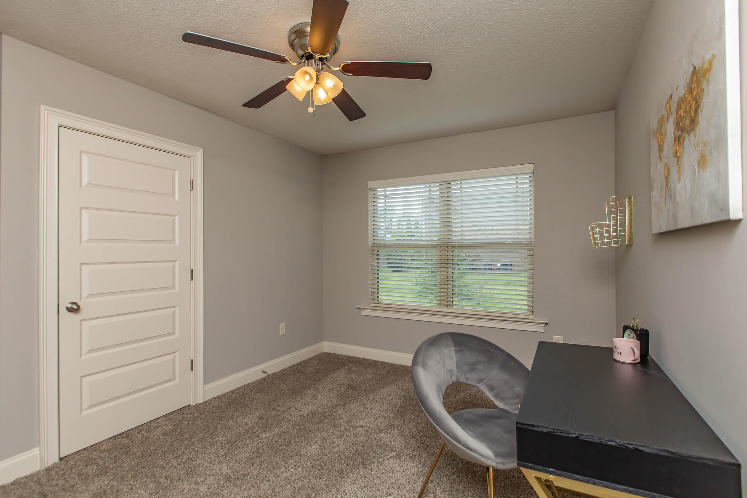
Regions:
[[367, 317], [401, 318], [403, 320], [420, 320], [422, 322], [453, 323], [492, 327], [494, 329], [525, 330], [528, 332], [545, 332], [548, 324], [542, 320], [524, 318], [496, 317], [492, 314], [458, 311], [438, 311], [420, 308], [394, 308], [389, 306], [359, 306], [362, 315]]

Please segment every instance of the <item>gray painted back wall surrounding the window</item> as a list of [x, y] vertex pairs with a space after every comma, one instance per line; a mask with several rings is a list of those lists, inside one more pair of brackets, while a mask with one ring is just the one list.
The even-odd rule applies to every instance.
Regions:
[[[592, 249], [589, 224], [614, 192], [614, 111], [323, 158], [324, 338], [412, 353], [439, 332], [477, 334], [524, 364], [539, 340], [609, 346], [615, 250]], [[545, 333], [363, 317], [368, 305], [368, 181], [535, 164], [535, 276]]]

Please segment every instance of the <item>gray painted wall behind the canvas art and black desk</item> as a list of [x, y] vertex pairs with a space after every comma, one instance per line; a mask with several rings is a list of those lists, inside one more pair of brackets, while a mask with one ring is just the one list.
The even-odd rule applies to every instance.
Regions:
[[[619, 97], [615, 181], [619, 192], [636, 196], [636, 219], [633, 246], [617, 251], [617, 325], [636, 315], [651, 329], [654, 358], [745, 464], [747, 222], [651, 234], [649, 113], [663, 105], [657, 95], [667, 83], [662, 75], [668, 74], [659, 68], [684, 55], [709, 5], [710, 0], [651, 4]], [[747, 150], [746, 22], [747, 1], [741, 0], [743, 151]], [[745, 159], [743, 152], [743, 164]], [[747, 191], [743, 199], [747, 201]]]

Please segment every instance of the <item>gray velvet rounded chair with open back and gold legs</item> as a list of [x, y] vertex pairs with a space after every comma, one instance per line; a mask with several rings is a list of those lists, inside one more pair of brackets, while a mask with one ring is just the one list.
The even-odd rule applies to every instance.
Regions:
[[[412, 385], [426, 415], [441, 435], [423, 496], [444, 445], [465, 460], [486, 467], [493, 498], [493, 469], [516, 467], [516, 416], [529, 370], [495, 344], [469, 334], [446, 333], [423, 341], [412, 358]], [[444, 391], [454, 382], [473, 385], [498, 406], [448, 414]]]

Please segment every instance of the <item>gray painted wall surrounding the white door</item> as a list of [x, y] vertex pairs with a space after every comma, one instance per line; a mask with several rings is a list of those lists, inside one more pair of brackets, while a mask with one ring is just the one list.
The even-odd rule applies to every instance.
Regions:
[[206, 383], [322, 340], [319, 156], [19, 40], [1, 43], [0, 460], [38, 446], [42, 104], [205, 149]]

